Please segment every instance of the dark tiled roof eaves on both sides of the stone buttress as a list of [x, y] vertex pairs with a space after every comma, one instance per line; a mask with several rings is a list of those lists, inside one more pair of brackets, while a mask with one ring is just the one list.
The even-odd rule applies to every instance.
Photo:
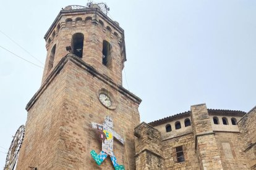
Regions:
[[[240, 110], [223, 110], [223, 109], [211, 109], [211, 108], [208, 108], [207, 110], [208, 110], [209, 115], [244, 116], [246, 114], [245, 111], [240, 111]], [[179, 119], [179, 118], [184, 118], [186, 116], [190, 116], [190, 114], [191, 114], [190, 111], [185, 111], [183, 113], [178, 113], [173, 116], [168, 116], [163, 119], [158, 119], [156, 121], [152, 121], [148, 124], [150, 124], [151, 126], [156, 126], [158, 124], [173, 121], [174, 119]]]

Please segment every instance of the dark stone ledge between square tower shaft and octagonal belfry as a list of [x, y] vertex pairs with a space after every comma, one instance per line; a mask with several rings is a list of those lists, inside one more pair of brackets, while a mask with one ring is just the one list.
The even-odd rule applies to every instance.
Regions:
[[140, 104], [142, 100], [137, 97], [136, 95], [132, 94], [131, 92], [127, 91], [124, 87], [122, 87], [119, 84], [114, 83], [113, 80], [109, 79], [108, 76], [102, 75], [99, 73], [95, 68], [93, 68], [91, 65], [88, 65], [85, 63], [82, 59], [79, 59], [79, 57], [76, 57], [74, 54], [67, 54], [65, 57], [61, 59], [61, 61], [56, 65], [53, 71], [49, 74], [48, 78], [46, 78], [45, 82], [41, 85], [40, 89], [36, 92], [35, 95], [33, 95], [32, 99], [28, 102], [26, 106], [26, 110], [30, 110], [30, 108], [35, 104], [36, 100], [39, 99], [41, 94], [47, 89], [51, 81], [59, 74], [59, 72], [64, 68], [64, 65], [66, 65], [67, 62], [73, 62], [78, 67], [84, 69], [91, 75], [95, 76], [96, 78], [100, 79], [104, 83], [109, 84], [110, 87], [117, 90], [123, 95], [126, 95], [130, 100], [134, 101], [135, 103]]

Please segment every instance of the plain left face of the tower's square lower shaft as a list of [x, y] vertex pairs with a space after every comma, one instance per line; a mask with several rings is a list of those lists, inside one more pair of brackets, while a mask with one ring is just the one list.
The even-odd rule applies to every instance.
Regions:
[[45, 90], [38, 99], [32, 99], [36, 102], [27, 114], [25, 137], [20, 148], [17, 170], [30, 169], [28, 166], [56, 169], [60, 143], [59, 119], [64, 111], [62, 103], [66, 79], [66, 71], [62, 70], [50, 84], [41, 87]]

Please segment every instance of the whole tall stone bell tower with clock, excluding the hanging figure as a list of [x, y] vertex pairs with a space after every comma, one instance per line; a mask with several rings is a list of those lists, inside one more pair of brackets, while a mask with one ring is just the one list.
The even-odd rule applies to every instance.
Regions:
[[109, 117], [117, 138], [124, 139], [113, 140], [117, 163], [135, 169], [141, 99], [122, 87], [124, 30], [97, 4], [67, 6], [45, 40], [45, 70], [26, 107], [17, 169], [114, 169], [110, 158], [98, 165], [91, 156], [102, 150], [92, 123]]

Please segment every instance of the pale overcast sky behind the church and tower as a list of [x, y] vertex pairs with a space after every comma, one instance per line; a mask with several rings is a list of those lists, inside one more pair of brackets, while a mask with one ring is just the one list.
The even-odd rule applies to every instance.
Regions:
[[[43, 36], [61, 8], [86, 3], [2, 1], [0, 31], [45, 63]], [[141, 121], [181, 113], [198, 103], [242, 111], [255, 106], [256, 1], [111, 0], [107, 4], [111, 18], [125, 31], [127, 83], [123, 77], [123, 86], [142, 99]], [[1, 32], [0, 46], [41, 65]], [[0, 169], [12, 136], [25, 124], [25, 105], [39, 89], [42, 73], [43, 69], [0, 48]]]

